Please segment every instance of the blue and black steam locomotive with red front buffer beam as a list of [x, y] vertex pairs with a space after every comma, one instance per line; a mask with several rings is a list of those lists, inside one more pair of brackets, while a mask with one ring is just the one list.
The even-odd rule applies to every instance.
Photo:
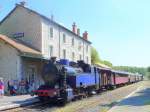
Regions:
[[98, 74], [98, 69], [92, 69], [83, 61], [66, 65], [52, 58], [43, 66], [42, 78], [45, 84], [35, 90], [34, 94], [42, 101], [61, 103], [86, 97], [94, 93], [99, 83]]

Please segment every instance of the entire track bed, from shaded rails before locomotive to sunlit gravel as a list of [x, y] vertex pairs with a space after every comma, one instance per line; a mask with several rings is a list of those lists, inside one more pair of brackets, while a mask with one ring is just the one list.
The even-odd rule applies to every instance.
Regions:
[[118, 100], [130, 94], [143, 82], [120, 87], [112, 91], [103, 91], [99, 95], [68, 103], [64, 107], [56, 107], [49, 102], [35, 103], [26, 107], [5, 110], [3, 112], [106, 112]]

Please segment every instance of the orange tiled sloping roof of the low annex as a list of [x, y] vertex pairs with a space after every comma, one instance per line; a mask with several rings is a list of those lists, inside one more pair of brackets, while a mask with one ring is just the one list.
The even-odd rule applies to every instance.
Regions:
[[41, 52], [37, 51], [33, 48], [30, 48], [22, 43], [20, 43], [19, 41], [9, 38], [5, 35], [1, 35], [0, 34], [0, 40], [5, 41], [6, 43], [8, 43], [9, 45], [11, 45], [12, 47], [16, 48], [18, 51], [20, 51], [22, 53], [22, 55], [38, 55], [41, 56]]

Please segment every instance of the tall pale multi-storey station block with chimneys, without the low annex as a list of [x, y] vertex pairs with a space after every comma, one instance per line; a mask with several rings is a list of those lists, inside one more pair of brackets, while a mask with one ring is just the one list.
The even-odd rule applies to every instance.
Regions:
[[91, 42], [87, 37], [79, 35], [79, 29], [77, 30], [75, 24], [72, 27], [72, 31], [68, 30], [35, 11], [17, 5], [2, 20], [0, 33], [12, 38], [22, 33], [19, 39], [39, 50], [46, 59], [55, 56], [70, 61], [84, 60], [91, 64]]

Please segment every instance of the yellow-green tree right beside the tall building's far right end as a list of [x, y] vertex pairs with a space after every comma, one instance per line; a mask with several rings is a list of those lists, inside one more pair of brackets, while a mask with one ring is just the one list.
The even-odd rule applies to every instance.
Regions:
[[100, 62], [99, 54], [97, 50], [94, 47], [92, 47], [91, 48], [91, 63], [96, 64], [98, 62]]

